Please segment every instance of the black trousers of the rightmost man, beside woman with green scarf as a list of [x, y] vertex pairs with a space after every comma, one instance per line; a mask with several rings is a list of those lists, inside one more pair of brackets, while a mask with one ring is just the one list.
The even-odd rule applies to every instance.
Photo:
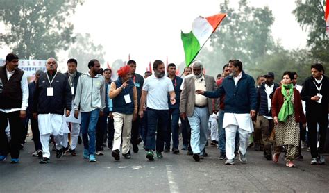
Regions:
[[[309, 113], [306, 113], [306, 115]], [[306, 116], [307, 127], [310, 140], [311, 156], [317, 158], [319, 153], [324, 153], [326, 133], [328, 127], [328, 115], [326, 113], [316, 113], [315, 116]], [[317, 148], [317, 125], [319, 124], [319, 149]]]

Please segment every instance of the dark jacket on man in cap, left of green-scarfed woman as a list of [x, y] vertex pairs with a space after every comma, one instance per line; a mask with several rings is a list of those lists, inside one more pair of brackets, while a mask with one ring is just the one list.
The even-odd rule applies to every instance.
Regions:
[[[276, 92], [276, 89], [279, 87], [277, 83], [273, 83], [273, 92], [269, 95], [269, 98], [272, 100], [274, 92]], [[272, 117], [271, 110], [269, 111], [268, 105], [267, 105], [267, 93], [265, 91], [265, 83], [262, 83], [260, 87], [257, 90], [257, 112], [258, 115], [264, 115]]]

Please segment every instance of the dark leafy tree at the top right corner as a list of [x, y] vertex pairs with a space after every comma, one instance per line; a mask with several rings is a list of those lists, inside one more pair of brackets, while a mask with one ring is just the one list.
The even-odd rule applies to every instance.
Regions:
[[297, 0], [293, 13], [305, 31], [309, 31], [307, 46], [312, 56], [320, 62], [329, 62], [329, 41], [324, 20], [325, 0]]

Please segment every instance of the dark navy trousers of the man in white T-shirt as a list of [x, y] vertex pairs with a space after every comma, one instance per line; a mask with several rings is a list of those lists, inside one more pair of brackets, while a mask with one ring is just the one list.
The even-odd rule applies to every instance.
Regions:
[[[147, 108], [147, 136], [146, 151], [155, 150], [162, 152], [165, 144], [165, 132], [167, 130], [169, 110], [155, 110]], [[156, 132], [156, 141], [155, 141]]]

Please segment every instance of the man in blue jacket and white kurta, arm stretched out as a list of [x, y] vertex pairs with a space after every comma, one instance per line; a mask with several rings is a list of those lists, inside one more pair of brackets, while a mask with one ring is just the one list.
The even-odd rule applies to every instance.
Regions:
[[205, 97], [218, 98], [225, 94], [225, 114], [223, 128], [226, 131], [226, 165], [234, 165], [235, 134], [240, 136], [239, 160], [246, 162], [246, 149], [248, 138], [253, 132], [251, 117], [256, 114], [256, 90], [253, 77], [245, 74], [242, 70], [242, 62], [230, 60], [228, 62], [231, 74], [223, 80], [221, 87], [208, 92], [196, 90], [197, 94]]

